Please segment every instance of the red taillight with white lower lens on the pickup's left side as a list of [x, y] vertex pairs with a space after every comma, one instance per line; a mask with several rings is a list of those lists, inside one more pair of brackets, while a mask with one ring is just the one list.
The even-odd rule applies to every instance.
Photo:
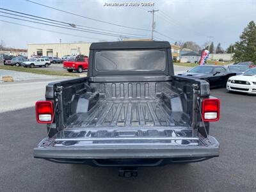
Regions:
[[36, 122], [39, 124], [51, 124], [53, 116], [53, 104], [49, 100], [36, 102]]

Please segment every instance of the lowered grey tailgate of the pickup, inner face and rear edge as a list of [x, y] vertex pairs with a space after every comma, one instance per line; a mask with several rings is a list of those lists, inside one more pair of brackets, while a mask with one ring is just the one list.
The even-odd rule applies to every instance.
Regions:
[[43, 159], [216, 157], [219, 143], [193, 129], [65, 129], [34, 148]]

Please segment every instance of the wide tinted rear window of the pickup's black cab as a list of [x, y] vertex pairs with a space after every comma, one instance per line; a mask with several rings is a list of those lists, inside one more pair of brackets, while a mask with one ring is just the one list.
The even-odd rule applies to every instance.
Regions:
[[96, 70], [156, 71], [166, 67], [166, 52], [160, 50], [99, 51]]

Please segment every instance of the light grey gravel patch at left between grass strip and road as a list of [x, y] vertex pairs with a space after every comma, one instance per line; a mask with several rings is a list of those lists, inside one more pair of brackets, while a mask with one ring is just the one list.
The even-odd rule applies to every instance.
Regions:
[[13, 71], [13, 70], [0, 69], [0, 83], [3, 82], [2, 81], [3, 76], [12, 76], [14, 81], [60, 78], [58, 76], [45, 76], [45, 75], [33, 74], [33, 73], [29, 73], [29, 72], [17, 72], [17, 71]]

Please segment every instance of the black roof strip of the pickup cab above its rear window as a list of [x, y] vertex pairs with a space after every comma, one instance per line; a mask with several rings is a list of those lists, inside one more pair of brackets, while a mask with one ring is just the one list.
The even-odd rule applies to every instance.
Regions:
[[92, 43], [92, 49], [161, 49], [170, 48], [169, 42], [160, 41], [127, 41], [127, 42], [100, 42]]

